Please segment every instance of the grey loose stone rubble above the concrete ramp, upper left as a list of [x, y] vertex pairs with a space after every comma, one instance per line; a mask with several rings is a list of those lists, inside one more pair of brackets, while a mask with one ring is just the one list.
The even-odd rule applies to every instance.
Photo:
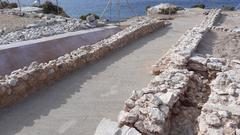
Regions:
[[[10, 13], [12, 12], [11, 10]], [[91, 21], [84, 21], [53, 14], [35, 12], [25, 14], [28, 15], [27, 17], [37, 18], [38, 20], [16, 31], [6, 32], [7, 30], [0, 30], [0, 45], [103, 26], [95, 18], [92, 18]]]

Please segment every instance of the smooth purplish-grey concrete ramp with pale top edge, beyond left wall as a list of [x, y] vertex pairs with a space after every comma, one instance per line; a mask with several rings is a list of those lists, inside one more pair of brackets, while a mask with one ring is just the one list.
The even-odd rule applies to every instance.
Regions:
[[[83, 45], [96, 43], [117, 32], [120, 28], [106, 26], [90, 30], [69, 32], [37, 40], [0, 46], [0, 75], [23, 68], [33, 61], [47, 62]], [[13, 55], [14, 54], [14, 55]]]

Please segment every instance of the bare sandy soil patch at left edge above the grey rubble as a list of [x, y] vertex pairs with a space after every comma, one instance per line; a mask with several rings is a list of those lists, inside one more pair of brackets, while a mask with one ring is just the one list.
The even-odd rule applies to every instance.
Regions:
[[0, 14], [0, 29], [7, 28], [7, 32], [21, 29], [37, 19]]

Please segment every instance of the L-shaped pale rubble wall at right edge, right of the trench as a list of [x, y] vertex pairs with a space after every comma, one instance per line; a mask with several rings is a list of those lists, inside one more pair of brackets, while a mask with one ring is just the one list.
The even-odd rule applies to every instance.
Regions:
[[199, 135], [238, 135], [240, 133], [240, 61], [193, 56], [189, 68], [207, 73], [210, 96], [198, 118]]

